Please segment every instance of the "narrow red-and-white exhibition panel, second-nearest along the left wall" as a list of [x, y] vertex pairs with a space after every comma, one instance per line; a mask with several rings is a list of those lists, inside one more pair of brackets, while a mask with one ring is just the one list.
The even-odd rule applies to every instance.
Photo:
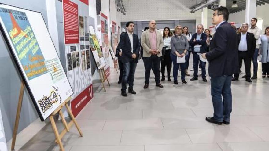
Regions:
[[102, 40], [102, 52], [105, 57], [105, 74], [108, 77], [110, 75], [110, 67], [109, 67], [109, 42], [108, 42], [108, 18], [105, 14], [100, 12], [100, 22], [101, 22], [101, 40]]

